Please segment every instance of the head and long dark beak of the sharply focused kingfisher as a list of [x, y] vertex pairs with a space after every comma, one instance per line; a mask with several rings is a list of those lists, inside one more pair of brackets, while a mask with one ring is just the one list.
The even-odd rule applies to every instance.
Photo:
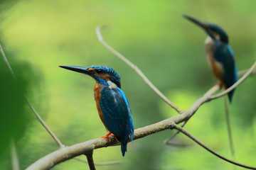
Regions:
[[63, 69], [69, 69], [74, 72], [87, 74], [94, 78], [100, 84], [107, 84], [107, 81], [112, 81], [119, 88], [121, 88], [121, 81], [119, 74], [114, 69], [106, 66], [91, 66], [91, 67], [78, 67], [78, 66], [60, 66]]

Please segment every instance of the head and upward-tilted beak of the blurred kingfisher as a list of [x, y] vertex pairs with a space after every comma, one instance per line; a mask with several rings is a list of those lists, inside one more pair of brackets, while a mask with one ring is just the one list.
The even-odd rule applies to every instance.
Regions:
[[204, 30], [206, 30], [206, 33], [215, 41], [221, 41], [228, 44], [228, 35], [225, 33], [225, 31], [220, 28], [219, 26], [216, 26], [213, 23], [204, 23], [202, 21], [197, 20], [196, 18], [193, 18], [191, 16], [187, 16], [183, 14], [183, 17], [188, 19], [189, 21], [195, 23], [196, 25], [200, 26]]

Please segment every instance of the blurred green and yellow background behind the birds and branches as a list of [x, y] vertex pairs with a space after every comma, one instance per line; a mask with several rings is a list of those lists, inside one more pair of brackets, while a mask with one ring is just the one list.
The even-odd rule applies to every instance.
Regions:
[[[1, 61], [1, 169], [11, 169], [9, 140], [16, 140], [21, 169], [58, 149], [21, 98], [26, 93], [38, 113], [65, 145], [106, 134], [93, 98], [95, 81], [58, 65], [106, 65], [122, 76], [122, 89], [141, 128], [177, 113], [144, 81], [98, 42], [95, 27], [107, 24], [105, 40], [137, 64], [146, 76], [181, 109], [188, 109], [215, 79], [208, 68], [203, 42], [206, 33], [186, 21], [186, 13], [217, 23], [230, 37], [238, 69], [256, 59], [256, 1], [0, 1], [0, 42], [16, 72], [11, 79]], [[236, 160], [256, 166], [255, 77], [235, 91], [230, 105]], [[204, 104], [186, 130], [208, 147], [231, 158], [225, 125], [224, 99]], [[166, 130], [128, 145], [97, 149], [95, 162], [122, 161], [97, 169], [233, 169], [183, 135], [164, 145]], [[85, 159], [85, 157], [80, 157]], [[76, 160], [53, 169], [88, 169]], [[241, 168], [236, 168], [241, 169]]]

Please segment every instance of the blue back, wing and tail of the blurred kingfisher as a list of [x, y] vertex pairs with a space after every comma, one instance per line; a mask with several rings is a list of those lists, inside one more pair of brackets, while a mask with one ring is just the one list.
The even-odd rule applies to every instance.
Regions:
[[[228, 89], [230, 86], [235, 84], [236, 81], [238, 81], [238, 69], [235, 65], [233, 50], [229, 45], [222, 42], [217, 42], [215, 47], [216, 50], [214, 53], [214, 58], [222, 64], [224, 70], [223, 83], [225, 84], [225, 88]], [[230, 102], [232, 101], [234, 91], [235, 89], [228, 93]]]

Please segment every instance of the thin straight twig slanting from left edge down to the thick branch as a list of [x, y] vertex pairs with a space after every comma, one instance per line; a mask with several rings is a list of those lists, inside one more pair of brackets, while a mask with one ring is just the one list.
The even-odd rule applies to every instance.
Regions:
[[[8, 67], [9, 71], [11, 72], [12, 76], [14, 77], [14, 79], [16, 79], [16, 75], [14, 74], [14, 71], [11, 68], [11, 64], [7, 60], [7, 57], [6, 57], [5, 53], [4, 53], [3, 47], [1, 47], [1, 44], [0, 44], [0, 53], [1, 53], [2, 59], [4, 60], [6, 66]], [[36, 118], [38, 119], [38, 121], [41, 123], [41, 125], [43, 125], [43, 128], [45, 128], [47, 130], [47, 132], [50, 134], [50, 136], [53, 137], [53, 140], [55, 140], [55, 142], [58, 144], [58, 146], [60, 148], [65, 147], [65, 145], [63, 145], [62, 142], [60, 142], [60, 140], [58, 139], [58, 137], [53, 133], [53, 131], [50, 130], [48, 125], [46, 125], [46, 123], [43, 121], [41, 116], [36, 112], [36, 109], [33, 108], [31, 102], [28, 101], [28, 98], [26, 97], [25, 94], [23, 94], [23, 97], [25, 98], [26, 103], [28, 104], [29, 108], [31, 108], [31, 111], [33, 112], [33, 114], [36, 115]]]

